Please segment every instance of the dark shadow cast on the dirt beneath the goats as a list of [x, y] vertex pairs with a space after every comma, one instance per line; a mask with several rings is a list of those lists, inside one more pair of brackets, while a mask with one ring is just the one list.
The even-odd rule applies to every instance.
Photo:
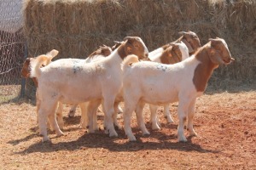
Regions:
[[[69, 119], [69, 118], [68, 118]], [[73, 117], [73, 119], [76, 122], [79, 122], [79, 116]], [[147, 128], [150, 129], [150, 123], [147, 123]], [[176, 124], [166, 124], [162, 123], [161, 126], [163, 128], [170, 129], [173, 132], [177, 132], [177, 125]], [[35, 129], [34, 129], [35, 130]], [[66, 132], [79, 130], [78, 128], [72, 128], [67, 129]], [[117, 133], [119, 134], [119, 137], [117, 138], [109, 138], [108, 134], [104, 133], [103, 131], [98, 131], [96, 133], [84, 133], [82, 136], [79, 137], [79, 139], [73, 140], [73, 141], [67, 141], [67, 142], [59, 142], [57, 144], [53, 144], [51, 142], [45, 142], [42, 143], [39, 141], [38, 143], [30, 145], [25, 150], [22, 150], [20, 152], [15, 152], [15, 154], [29, 154], [34, 152], [41, 152], [41, 153], [47, 153], [47, 152], [53, 152], [53, 151], [59, 151], [59, 150], [86, 150], [86, 148], [104, 148], [109, 151], [138, 151], [138, 150], [181, 150], [185, 152], [190, 151], [197, 151], [200, 153], [218, 153], [219, 150], [207, 150], [201, 147], [200, 144], [194, 144], [192, 143], [192, 138], [188, 138], [188, 142], [177, 142], [177, 135], [174, 133], [162, 133], [160, 131], [151, 131], [150, 135], [143, 136], [143, 134], [140, 132], [138, 127], [132, 128], [133, 133], [135, 133], [137, 137], [136, 142], [128, 142], [127, 138], [125, 136], [125, 132], [123, 129], [117, 130]], [[64, 131], [65, 132], [65, 131]], [[26, 140], [32, 139], [32, 138], [38, 138], [37, 133], [33, 133], [29, 136], [27, 136], [24, 139], [19, 140], [13, 140], [9, 141], [9, 144], [19, 144], [20, 142], [25, 142]], [[57, 138], [57, 137], [55, 137]], [[65, 140], [65, 136], [61, 137]], [[197, 137], [196, 137], [197, 138]], [[172, 140], [172, 141], [171, 141]]]

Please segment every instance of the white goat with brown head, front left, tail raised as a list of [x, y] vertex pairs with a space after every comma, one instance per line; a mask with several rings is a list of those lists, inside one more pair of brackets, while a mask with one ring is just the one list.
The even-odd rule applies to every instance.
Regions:
[[47, 116], [57, 136], [63, 134], [54, 114], [58, 101], [78, 104], [101, 99], [109, 136], [118, 135], [113, 127], [113, 104], [122, 87], [121, 64], [129, 54], [136, 54], [140, 59], [148, 57], [148, 48], [140, 37], [126, 37], [119, 48], [107, 58], [92, 63], [77, 59], [58, 59], [40, 69], [44, 56], [31, 62], [31, 77], [38, 79], [38, 126], [43, 141], [49, 140]]

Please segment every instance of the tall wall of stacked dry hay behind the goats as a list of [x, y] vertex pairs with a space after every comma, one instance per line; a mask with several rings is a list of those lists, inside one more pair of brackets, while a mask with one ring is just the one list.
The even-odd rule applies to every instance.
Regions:
[[190, 30], [202, 44], [209, 37], [223, 37], [229, 44], [236, 64], [218, 69], [218, 77], [255, 77], [253, 0], [25, 0], [23, 14], [30, 56], [55, 48], [60, 51], [56, 59], [85, 58], [125, 36], [142, 37], [150, 51], [175, 40], [178, 31]]

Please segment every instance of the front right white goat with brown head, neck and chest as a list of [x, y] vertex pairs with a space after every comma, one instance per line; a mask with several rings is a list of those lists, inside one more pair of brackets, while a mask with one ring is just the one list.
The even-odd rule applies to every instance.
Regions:
[[[136, 140], [131, 132], [131, 113], [137, 112], [137, 122], [143, 134], [149, 134], [143, 122], [141, 105], [166, 104], [178, 101], [177, 139], [187, 141], [184, 122], [188, 118], [190, 135], [193, 128], [195, 99], [203, 94], [212, 71], [218, 65], [228, 65], [234, 60], [224, 39], [210, 39], [194, 55], [174, 65], [142, 61], [124, 67], [123, 91], [125, 99], [125, 133], [130, 141]], [[157, 83], [155, 83], [157, 82]]]

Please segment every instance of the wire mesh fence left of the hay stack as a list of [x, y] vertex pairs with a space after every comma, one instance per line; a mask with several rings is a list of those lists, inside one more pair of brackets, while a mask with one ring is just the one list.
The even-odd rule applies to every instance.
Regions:
[[0, 2], [0, 102], [20, 97], [21, 84], [25, 85], [20, 71], [25, 54], [26, 41], [22, 31], [20, 0]]

